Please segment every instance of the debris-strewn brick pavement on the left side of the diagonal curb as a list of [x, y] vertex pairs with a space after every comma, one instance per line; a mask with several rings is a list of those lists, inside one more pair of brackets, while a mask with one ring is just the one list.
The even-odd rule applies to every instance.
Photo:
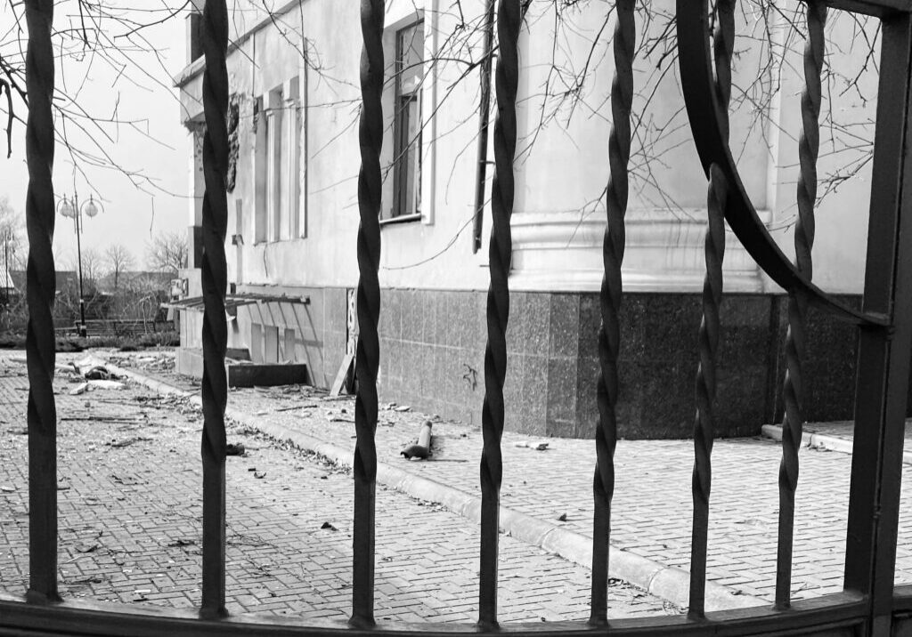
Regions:
[[[138, 385], [68, 396], [72, 386], [56, 383], [63, 593], [197, 605], [201, 416]], [[27, 581], [26, 387], [25, 365], [0, 358], [0, 580], [12, 592]], [[237, 426], [229, 436], [250, 450], [227, 465], [229, 611], [345, 619], [347, 471]], [[378, 488], [378, 621], [474, 621], [477, 552], [466, 520]], [[503, 537], [500, 570], [504, 622], [586, 618], [586, 569]], [[611, 594], [616, 617], [677, 612], [622, 583]]]

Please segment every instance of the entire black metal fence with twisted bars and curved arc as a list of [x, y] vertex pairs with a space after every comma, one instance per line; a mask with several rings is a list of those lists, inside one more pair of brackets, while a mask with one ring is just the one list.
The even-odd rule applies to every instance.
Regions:
[[[593, 478], [591, 614], [579, 622], [511, 625], [510, 632], [573, 634], [605, 632], [642, 635], [721, 634], [912, 634], [912, 587], [895, 587], [896, 529], [902, 470], [902, 447], [912, 349], [912, 192], [904, 189], [912, 162], [907, 160], [912, 5], [898, 0], [809, 0], [806, 3], [807, 47], [802, 96], [803, 131], [799, 161], [799, 218], [796, 258], [787, 258], [772, 241], [747, 197], [728, 147], [727, 107], [731, 95], [734, 0], [678, 1], [680, 75], [693, 130], [709, 186], [706, 234], [707, 274], [703, 291], [694, 419], [694, 502], [689, 613], [686, 617], [608, 622], [608, 545], [617, 442], [618, 310], [622, 301], [624, 216], [627, 209], [627, 161], [631, 144], [634, 0], [617, 0], [613, 36], [616, 62], [611, 97], [613, 128], [607, 140], [610, 180], [606, 194], [605, 275], [601, 292], [602, 324], [598, 334], [600, 373], [597, 393], [597, 466]], [[824, 60], [827, 8], [875, 15], [882, 21], [882, 63], [877, 100], [877, 126], [868, 231], [865, 299], [855, 311], [819, 290], [812, 279], [818, 118]], [[51, 241], [54, 199], [51, 168], [54, 130], [51, 94], [54, 86], [50, 44], [54, 3], [26, 0], [29, 32], [27, 56], [27, 154], [30, 182], [27, 200], [28, 257], [28, 396], [30, 582], [25, 598], [0, 596], [3, 634], [316, 634], [369, 633], [374, 622], [374, 533], [377, 454], [377, 333], [381, 293], [378, 283], [381, 197], [380, 146], [383, 118], [383, 0], [361, 1], [364, 52], [361, 65], [359, 139], [362, 168], [358, 180], [358, 339], [354, 460], [354, 558], [351, 619], [345, 624], [307, 622], [264, 616], [228, 617], [225, 598], [225, 431], [227, 387], [224, 375], [226, 326], [224, 298], [227, 222], [225, 175], [228, 164], [226, 113], [228, 15], [224, 0], [207, 0], [202, 15], [206, 60], [203, 100], [202, 328], [204, 374], [202, 404], [202, 608], [163, 611], [115, 605], [61, 601], [57, 592], [57, 412], [51, 386], [54, 374], [54, 264]], [[496, 69], [498, 118], [495, 123], [495, 172], [492, 186], [491, 284], [487, 304], [485, 396], [482, 405], [483, 451], [482, 539], [478, 622], [472, 625], [389, 626], [382, 632], [493, 632], [502, 630], [497, 616], [498, 513], [503, 473], [503, 382], [508, 365], [505, 333], [510, 311], [508, 273], [512, 254], [513, 155], [516, 146], [516, 92], [521, 0], [500, 0], [497, 7], [499, 56]], [[715, 32], [710, 34], [710, 25]], [[775, 603], [768, 608], [705, 612], [707, 526], [710, 509], [713, 405], [721, 263], [725, 223], [751, 256], [789, 293], [787, 375], [784, 396], [782, 465], [779, 472], [780, 522]], [[802, 357], [804, 315], [809, 305], [836, 319], [856, 324], [860, 339], [844, 591], [812, 601], [791, 601], [794, 494], [798, 478], [797, 449], [802, 438]]]

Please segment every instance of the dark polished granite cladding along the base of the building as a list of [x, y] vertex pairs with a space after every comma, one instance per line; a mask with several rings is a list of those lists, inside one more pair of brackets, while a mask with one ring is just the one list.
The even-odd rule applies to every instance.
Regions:
[[[309, 365], [316, 385], [326, 387], [346, 351], [347, 290], [304, 292], [311, 296], [309, 305], [264, 303], [248, 319], [247, 329], [252, 328], [249, 323], [284, 325], [286, 342], [287, 330], [295, 329], [295, 353]], [[857, 298], [848, 300], [858, 303]], [[483, 291], [384, 290], [380, 400], [480, 425], [485, 308]], [[620, 315], [620, 437], [692, 436], [701, 312], [697, 294], [625, 295]], [[782, 417], [786, 299], [726, 295], [720, 316], [717, 435], [756, 435], [763, 424]], [[541, 437], [594, 437], [600, 323], [597, 293], [511, 295], [504, 385], [508, 430]], [[809, 315], [804, 365], [809, 420], [852, 417], [856, 348], [851, 325], [816, 312]], [[252, 350], [255, 357], [257, 347]]]

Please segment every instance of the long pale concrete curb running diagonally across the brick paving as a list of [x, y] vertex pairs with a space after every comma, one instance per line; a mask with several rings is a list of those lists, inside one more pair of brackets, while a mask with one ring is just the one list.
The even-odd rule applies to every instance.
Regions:
[[[184, 391], [116, 365], [106, 365], [115, 374], [124, 375], [160, 394], [189, 397], [194, 404], [202, 405], [202, 397], [195, 392]], [[312, 451], [340, 465], [347, 467], [352, 465], [354, 456], [352, 450], [337, 447], [316, 437], [269, 422], [262, 416], [252, 416], [230, 406], [225, 409], [225, 416], [257, 429], [266, 436], [290, 442], [295, 447]], [[377, 463], [377, 480], [378, 483], [395, 488], [412, 498], [439, 502], [443, 507], [463, 518], [476, 523], [481, 521], [482, 498], [478, 496], [472, 496], [460, 489], [422, 478], [385, 462]], [[585, 535], [503, 506], [501, 507], [501, 529], [513, 538], [521, 539], [527, 544], [559, 555], [565, 560], [573, 561], [587, 569], [592, 568], [592, 539]], [[608, 560], [612, 577], [634, 584], [679, 607], [687, 607], [690, 587], [690, 574], [687, 570], [666, 566], [613, 546], [610, 548]], [[768, 605], [770, 605], [769, 601], [759, 597], [744, 595], [740, 591], [711, 581], [706, 583], [707, 611]]]

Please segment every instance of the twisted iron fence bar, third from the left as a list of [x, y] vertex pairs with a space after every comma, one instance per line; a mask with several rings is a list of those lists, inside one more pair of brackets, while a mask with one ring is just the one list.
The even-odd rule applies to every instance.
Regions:
[[358, 175], [358, 348], [355, 377], [355, 518], [350, 623], [374, 625], [374, 525], [377, 496], [377, 372], [380, 342], [380, 149], [383, 146], [383, 0], [361, 0], [361, 171]]

